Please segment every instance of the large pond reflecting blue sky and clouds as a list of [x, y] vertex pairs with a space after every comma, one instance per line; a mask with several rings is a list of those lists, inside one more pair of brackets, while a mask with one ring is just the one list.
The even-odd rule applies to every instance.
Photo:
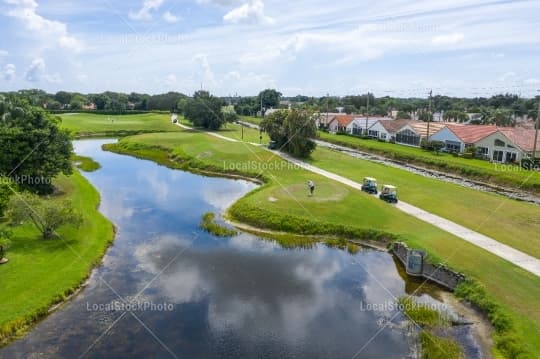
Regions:
[[[74, 143], [117, 234], [84, 290], [0, 351], [5, 358], [404, 358], [411, 292], [388, 253], [285, 249], [201, 232], [256, 185], [175, 171]], [[436, 302], [430, 286], [420, 299]]]

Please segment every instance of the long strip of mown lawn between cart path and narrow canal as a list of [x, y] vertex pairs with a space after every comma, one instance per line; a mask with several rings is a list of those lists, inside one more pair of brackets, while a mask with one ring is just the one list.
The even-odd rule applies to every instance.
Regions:
[[476, 191], [398, 168], [357, 159], [319, 147], [311, 164], [362, 182], [375, 177], [379, 185], [398, 187], [408, 203], [490, 236], [540, 258], [540, 206]]

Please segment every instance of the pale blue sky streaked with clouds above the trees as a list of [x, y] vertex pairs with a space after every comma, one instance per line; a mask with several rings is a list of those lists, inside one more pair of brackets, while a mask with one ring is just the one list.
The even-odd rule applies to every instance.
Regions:
[[540, 89], [540, 1], [0, 0], [0, 90]]

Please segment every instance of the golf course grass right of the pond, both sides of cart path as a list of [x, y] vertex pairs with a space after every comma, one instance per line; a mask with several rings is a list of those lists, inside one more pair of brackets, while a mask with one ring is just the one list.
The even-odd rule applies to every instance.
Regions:
[[[164, 116], [163, 121], [168, 120]], [[241, 139], [240, 131], [242, 129], [238, 126], [228, 125], [219, 134]], [[244, 128], [243, 131], [247, 142], [258, 138], [257, 130]], [[504, 351], [507, 347], [519, 346], [517, 338], [522, 338], [525, 348], [531, 352], [540, 348], [538, 336], [534, 334], [540, 330], [540, 317], [533, 309], [540, 295], [538, 277], [405, 215], [382, 201], [322, 176], [291, 167], [261, 147], [233, 143], [178, 127], [176, 131], [168, 133], [126, 137], [106, 148], [151, 159], [172, 168], [234, 173], [263, 179], [266, 182], [263, 187], [228, 210], [228, 216], [235, 221], [306, 235], [342, 235], [365, 239], [395, 236], [411, 247], [427, 250], [433, 262], [444, 262], [481, 283], [486, 288], [487, 298], [492, 301], [489, 305], [497, 308], [496, 315], [511, 318], [512, 329], [495, 336], [498, 348]], [[538, 209], [531, 204], [505, 200], [497, 195], [355, 160], [327, 149], [317, 149], [309, 161], [357, 181], [370, 175], [382, 182], [396, 184], [404, 201], [538, 256], [538, 242], [530, 236], [539, 226], [534, 220]], [[308, 180], [313, 180], [317, 186], [313, 197], [308, 196], [305, 186]]]

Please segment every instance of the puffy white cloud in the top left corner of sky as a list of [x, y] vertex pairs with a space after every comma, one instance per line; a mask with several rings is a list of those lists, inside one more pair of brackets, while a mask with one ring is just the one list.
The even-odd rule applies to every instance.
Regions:
[[66, 24], [37, 14], [38, 4], [35, 0], [4, 0], [4, 2], [13, 5], [7, 15], [19, 19], [28, 30], [45, 37], [47, 44], [54, 43], [73, 51], [80, 51], [83, 48], [83, 44], [68, 33]]

